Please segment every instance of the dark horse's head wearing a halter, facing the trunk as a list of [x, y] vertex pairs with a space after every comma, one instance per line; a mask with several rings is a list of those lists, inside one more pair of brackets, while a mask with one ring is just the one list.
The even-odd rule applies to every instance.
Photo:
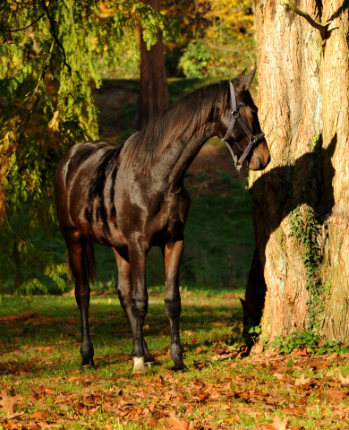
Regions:
[[249, 91], [256, 69], [241, 73], [229, 81], [229, 97], [226, 111], [221, 116], [219, 132], [222, 141], [230, 150], [236, 168], [246, 160], [251, 170], [262, 170], [268, 166], [270, 154], [264, 133], [260, 130], [257, 107]]

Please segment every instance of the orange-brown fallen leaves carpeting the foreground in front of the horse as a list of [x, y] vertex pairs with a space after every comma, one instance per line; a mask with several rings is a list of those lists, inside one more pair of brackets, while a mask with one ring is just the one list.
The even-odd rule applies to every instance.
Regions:
[[[296, 359], [294, 367], [302, 368], [307, 364], [306, 357]], [[334, 373], [322, 378], [316, 375], [309, 377], [303, 372], [295, 378], [293, 368], [285, 366], [285, 358], [270, 360], [267, 364], [255, 360], [256, 357], [247, 357], [239, 362], [227, 362], [224, 369], [216, 366], [210, 377], [209, 374], [201, 375], [205, 371], [203, 369], [192, 380], [188, 380], [186, 374], [166, 371], [165, 374], [149, 374], [130, 385], [129, 377], [123, 378], [121, 383], [115, 376], [108, 381], [109, 388], [105, 387], [106, 380], [98, 371], [85, 373], [75, 370], [64, 378], [66, 383], [76, 387], [73, 392], [66, 388], [57, 391], [62, 383], [58, 378], [47, 386], [39, 383], [32, 386], [26, 407], [14, 393], [2, 392], [0, 405], [7, 419], [2, 425], [4, 428], [42, 430], [54, 428], [59, 420], [69, 427], [69, 420], [78, 419], [88, 423], [87, 426], [95, 426], [93, 423], [97, 417], [106, 414], [117, 417], [123, 425], [142, 423], [150, 428], [166, 430], [243, 428], [247, 417], [253, 417], [261, 430], [294, 430], [302, 428], [292, 424], [294, 420], [302, 419], [312, 408], [308, 400], [310, 393], [318, 402], [325, 402], [336, 419], [345, 419], [349, 413], [349, 406], [343, 404], [348, 395], [345, 390], [347, 377], [342, 374]], [[244, 369], [251, 363], [253, 367], [246, 373]], [[260, 370], [266, 368], [272, 382], [260, 379]], [[220, 376], [217, 377], [216, 373]], [[284, 392], [278, 391], [278, 386], [283, 387]], [[49, 406], [52, 404], [54, 409]], [[25, 410], [32, 410], [33, 405], [38, 409], [25, 414]], [[21, 412], [16, 413], [19, 406]], [[185, 415], [179, 410], [185, 411]], [[282, 418], [272, 415], [276, 410], [282, 411]], [[270, 421], [260, 424], [265, 414], [269, 414]], [[17, 424], [6, 426], [10, 418]], [[113, 428], [108, 426], [106, 422], [106, 429]]]

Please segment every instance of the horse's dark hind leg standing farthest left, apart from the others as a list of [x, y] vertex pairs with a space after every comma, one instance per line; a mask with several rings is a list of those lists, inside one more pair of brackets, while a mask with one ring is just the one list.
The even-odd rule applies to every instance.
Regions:
[[89, 339], [89, 279], [86, 261], [87, 240], [80, 236], [79, 240], [67, 243], [69, 264], [75, 279], [75, 298], [81, 314], [81, 366], [94, 366], [93, 346]]

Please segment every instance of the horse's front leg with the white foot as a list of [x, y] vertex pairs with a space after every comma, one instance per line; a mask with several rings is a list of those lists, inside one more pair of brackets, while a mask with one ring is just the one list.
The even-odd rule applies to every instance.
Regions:
[[133, 316], [133, 372], [145, 374], [143, 323], [148, 310], [148, 292], [146, 287], [146, 250], [141, 245], [129, 245], [130, 277], [132, 284], [132, 316]]

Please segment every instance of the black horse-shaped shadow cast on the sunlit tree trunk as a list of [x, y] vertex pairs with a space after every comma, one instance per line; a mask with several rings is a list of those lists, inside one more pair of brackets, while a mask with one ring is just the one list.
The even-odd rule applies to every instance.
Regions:
[[245, 301], [242, 301], [245, 326], [259, 325], [263, 314], [267, 292], [264, 267], [270, 235], [302, 203], [315, 211], [319, 225], [332, 211], [335, 168], [331, 158], [336, 150], [336, 141], [335, 134], [325, 150], [319, 135], [312, 152], [296, 159], [294, 165], [272, 168], [251, 187], [257, 249], [253, 255]]

